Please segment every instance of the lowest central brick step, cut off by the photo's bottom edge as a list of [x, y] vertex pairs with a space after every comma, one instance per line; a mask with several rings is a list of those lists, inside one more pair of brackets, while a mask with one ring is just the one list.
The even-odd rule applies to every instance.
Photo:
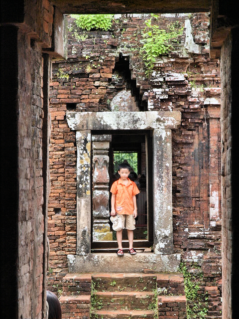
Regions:
[[140, 318], [154, 318], [153, 311], [139, 311], [139, 310], [119, 310], [115, 311], [92, 311], [91, 319], [140, 319]]

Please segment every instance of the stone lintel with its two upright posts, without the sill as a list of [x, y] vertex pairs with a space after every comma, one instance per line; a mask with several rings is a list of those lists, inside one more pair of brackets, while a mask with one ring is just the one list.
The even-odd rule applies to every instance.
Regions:
[[177, 111], [67, 112], [77, 145], [77, 255], [91, 253], [92, 131], [152, 130], [154, 254], [173, 253], [172, 134], [181, 124]]

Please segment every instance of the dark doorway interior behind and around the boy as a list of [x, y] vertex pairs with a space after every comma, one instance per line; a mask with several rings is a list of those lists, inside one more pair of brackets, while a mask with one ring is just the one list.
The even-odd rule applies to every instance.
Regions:
[[[151, 247], [153, 243], [153, 213], [152, 213], [152, 143], [151, 131], [104, 131], [93, 133], [95, 134], [111, 134], [112, 141], [109, 150], [109, 190], [113, 182], [119, 178], [117, 172], [117, 163], [114, 158], [116, 154], [122, 156], [122, 161], [125, 155], [137, 154], [137, 162], [132, 165], [130, 179], [138, 186], [140, 193], [137, 197], [136, 229], [134, 230], [134, 247], [139, 250]], [[120, 158], [120, 157], [119, 157]], [[119, 159], [118, 159], [119, 160]], [[130, 164], [130, 160], [127, 160]], [[132, 173], [135, 172], [134, 178]], [[109, 210], [111, 211], [111, 193], [109, 198]], [[113, 231], [113, 229], [111, 229]], [[127, 231], [123, 230], [123, 247], [128, 246]], [[111, 249], [117, 248], [116, 232], [113, 231], [113, 241], [93, 242], [92, 248], [94, 252], [111, 252]]]

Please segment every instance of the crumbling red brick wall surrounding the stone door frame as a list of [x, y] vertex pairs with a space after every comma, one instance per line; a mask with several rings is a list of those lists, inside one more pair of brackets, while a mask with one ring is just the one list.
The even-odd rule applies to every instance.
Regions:
[[[76, 141], [66, 111], [110, 111], [112, 99], [127, 89], [142, 112], [182, 113], [181, 126], [172, 133], [174, 248], [189, 268], [201, 268], [202, 290], [216, 286], [221, 291], [220, 65], [218, 59], [209, 57], [208, 15], [160, 16], [157, 23], [161, 27], [181, 23], [185, 28], [169, 56], [156, 60], [150, 79], [139, 54], [141, 31], [148, 18], [119, 15], [110, 31], [87, 33], [75, 32], [74, 19], [69, 18], [68, 60], [53, 64], [50, 96], [51, 288], [60, 287], [67, 273], [67, 254], [76, 254]], [[187, 19], [200, 52], [184, 46]], [[122, 67], [125, 61], [129, 75]], [[220, 317], [220, 310], [220, 300], [210, 299], [209, 318]]]

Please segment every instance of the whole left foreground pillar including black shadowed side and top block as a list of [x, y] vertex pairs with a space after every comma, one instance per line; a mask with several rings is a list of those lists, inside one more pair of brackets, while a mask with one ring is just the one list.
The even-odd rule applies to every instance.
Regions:
[[54, 52], [53, 20], [48, 0], [1, 6], [2, 318], [46, 318], [51, 57], [43, 52]]

